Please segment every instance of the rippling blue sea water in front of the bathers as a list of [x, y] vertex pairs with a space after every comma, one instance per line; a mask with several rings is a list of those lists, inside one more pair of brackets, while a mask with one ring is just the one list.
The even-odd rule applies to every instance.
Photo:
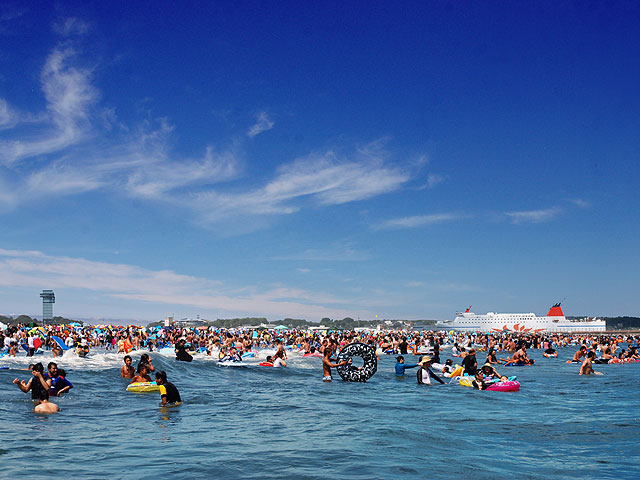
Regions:
[[[381, 358], [367, 383], [323, 383], [320, 358], [292, 355], [286, 369], [187, 364], [152, 354], [184, 404], [132, 394], [122, 356], [58, 361], [74, 383], [62, 411], [36, 415], [28, 359], [0, 359], [4, 478], [640, 478], [640, 363], [597, 365], [578, 376], [560, 358], [530, 351], [519, 392], [420, 386]], [[138, 356], [134, 355], [134, 361]], [[410, 357], [408, 357], [410, 358]], [[443, 355], [443, 361], [447, 355]], [[47, 354], [37, 356], [48, 362]], [[478, 359], [484, 359], [479, 353]], [[408, 362], [409, 363], [409, 362]], [[46, 363], [45, 363], [46, 366]], [[337, 376], [337, 375], [336, 375]]]

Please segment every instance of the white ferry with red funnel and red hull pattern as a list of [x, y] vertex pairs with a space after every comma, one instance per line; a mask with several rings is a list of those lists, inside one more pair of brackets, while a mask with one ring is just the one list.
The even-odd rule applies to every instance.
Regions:
[[436, 327], [470, 332], [604, 332], [607, 324], [595, 317], [568, 319], [560, 303], [556, 303], [544, 317], [534, 313], [489, 312], [476, 315], [469, 307], [464, 312], [457, 312], [454, 320], [437, 322]]

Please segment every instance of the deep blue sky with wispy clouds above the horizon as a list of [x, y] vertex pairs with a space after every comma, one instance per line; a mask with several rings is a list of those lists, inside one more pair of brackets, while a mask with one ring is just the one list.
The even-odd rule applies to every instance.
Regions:
[[0, 313], [638, 315], [635, 2], [3, 2]]

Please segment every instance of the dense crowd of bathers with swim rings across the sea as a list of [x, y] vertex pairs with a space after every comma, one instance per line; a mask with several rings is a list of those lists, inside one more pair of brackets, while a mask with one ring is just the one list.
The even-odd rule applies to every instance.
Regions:
[[[39, 341], [38, 341], [39, 340]], [[576, 346], [572, 360], [579, 363], [580, 375], [598, 375], [593, 364], [624, 363], [640, 361], [637, 352], [639, 336], [623, 336], [613, 332], [605, 334], [560, 334], [560, 333], [468, 333], [468, 332], [393, 332], [380, 330], [362, 331], [303, 331], [268, 330], [256, 328], [218, 329], [206, 327], [83, 327], [80, 325], [27, 327], [17, 325], [0, 332], [0, 355], [19, 354], [18, 346], [23, 346], [28, 356], [38, 349], [51, 350], [54, 357], [62, 354], [63, 345], [79, 356], [89, 354], [91, 348], [102, 351], [117, 351], [124, 354], [121, 377], [132, 383], [155, 382], [161, 392], [163, 404], [180, 402], [178, 389], [167, 381], [166, 372], [156, 372], [149, 353], [140, 357], [137, 367], [133, 367], [134, 350], [154, 352], [170, 349], [176, 360], [191, 361], [193, 353], [217, 355], [221, 362], [241, 362], [245, 355], [257, 356], [261, 349], [275, 349], [263, 366], [286, 367], [287, 352], [295, 351], [303, 356], [322, 356], [323, 380], [332, 380], [332, 369], [351, 365], [351, 360], [337, 361], [337, 354], [351, 343], [363, 343], [374, 349], [377, 355], [397, 355], [395, 373], [403, 376], [410, 368], [417, 368], [419, 384], [444, 383], [442, 377], [454, 373], [452, 359], [444, 364], [440, 354], [450, 348], [450, 356], [460, 359], [458, 373], [473, 377], [473, 386], [485, 389], [490, 382], [504, 381], [495, 365], [533, 365], [529, 357], [530, 349], [541, 349], [545, 357], [557, 356], [557, 348]], [[486, 359], [478, 367], [478, 352], [486, 352]], [[498, 357], [506, 353], [505, 358]], [[420, 355], [415, 364], [406, 364], [404, 355]], [[350, 367], [351, 368], [351, 367]], [[355, 368], [355, 367], [354, 367]], [[42, 363], [30, 365], [32, 378], [28, 381], [14, 380], [24, 392], [31, 392], [38, 403], [40, 412], [57, 411], [57, 406], [49, 399], [63, 395], [73, 388], [66, 378], [66, 372], [59, 370], [55, 362], [48, 364], [47, 373]], [[439, 373], [436, 373], [436, 370]]]

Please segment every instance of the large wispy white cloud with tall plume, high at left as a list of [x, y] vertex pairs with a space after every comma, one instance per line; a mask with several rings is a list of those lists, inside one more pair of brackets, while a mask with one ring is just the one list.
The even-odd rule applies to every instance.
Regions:
[[[68, 19], [56, 28], [64, 34], [88, 27]], [[411, 166], [387, 162], [388, 139], [381, 138], [350, 154], [329, 150], [284, 163], [258, 186], [239, 190], [225, 182], [243, 174], [240, 140], [232, 140], [226, 149], [207, 146], [200, 158], [182, 158], [173, 153], [174, 127], [168, 119], [149, 117], [137, 127], [123, 126], [115, 109], [98, 105], [100, 92], [92, 85], [92, 71], [78, 65], [72, 45], [65, 42], [46, 59], [41, 73], [45, 112], [21, 114], [0, 100], [0, 129], [9, 130], [0, 141], [0, 163], [7, 168], [0, 172], [0, 183], [10, 179], [15, 186], [13, 193], [0, 195], [0, 207], [104, 190], [183, 208], [203, 224], [261, 217], [244, 222], [259, 226], [309, 206], [341, 205], [393, 192], [412, 177]], [[35, 119], [31, 136], [10, 131]], [[107, 136], [105, 122], [120, 128]], [[273, 125], [266, 112], [259, 112], [249, 136]], [[27, 160], [36, 159], [23, 168]]]

